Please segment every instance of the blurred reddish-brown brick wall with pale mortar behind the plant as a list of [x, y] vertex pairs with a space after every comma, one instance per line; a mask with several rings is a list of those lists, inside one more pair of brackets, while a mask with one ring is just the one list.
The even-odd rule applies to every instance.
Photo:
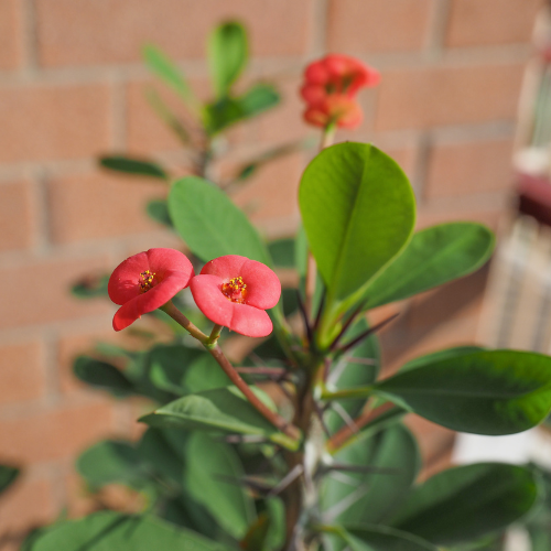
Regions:
[[[139, 404], [112, 403], [71, 379], [75, 354], [116, 337], [114, 309], [77, 302], [67, 289], [132, 252], [177, 242], [142, 214], [162, 195], [156, 184], [114, 179], [94, 162], [112, 151], [177, 159], [142, 98], [142, 43], [165, 48], [204, 88], [206, 33], [223, 18], [247, 23], [250, 77], [277, 79], [285, 102], [233, 133], [237, 159], [312, 133], [296, 96], [307, 61], [326, 51], [361, 57], [380, 68], [381, 85], [363, 96], [361, 130], [341, 137], [396, 156], [415, 187], [420, 226], [471, 218], [496, 227], [510, 197], [517, 100], [541, 2], [0, 0], [0, 461], [25, 468], [0, 500], [0, 534], [51, 520], [69, 496], [79, 510], [75, 456], [136, 430]], [[305, 161], [289, 156], [238, 194], [267, 233], [296, 223]], [[415, 299], [386, 337], [390, 363], [472, 341], [483, 287], [484, 274]], [[414, 423], [426, 455], [449, 443]]]

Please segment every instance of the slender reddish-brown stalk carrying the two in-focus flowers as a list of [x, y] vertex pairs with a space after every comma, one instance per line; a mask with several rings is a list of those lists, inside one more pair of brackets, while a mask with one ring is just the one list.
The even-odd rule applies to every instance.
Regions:
[[301, 432], [296, 426], [288, 423], [279, 413], [268, 408], [260, 399], [252, 392], [250, 387], [241, 379], [241, 376], [235, 370], [234, 366], [229, 363], [228, 358], [222, 352], [216, 341], [210, 342], [210, 338], [205, 335], [198, 327], [196, 327], [187, 317], [180, 312], [171, 302], [168, 302], [162, 310], [166, 312], [176, 323], [186, 329], [193, 337], [199, 341], [203, 346], [208, 350], [213, 358], [218, 363], [224, 372], [228, 376], [229, 380], [245, 395], [251, 406], [261, 413], [273, 426], [287, 434], [290, 439], [298, 441], [301, 437]]

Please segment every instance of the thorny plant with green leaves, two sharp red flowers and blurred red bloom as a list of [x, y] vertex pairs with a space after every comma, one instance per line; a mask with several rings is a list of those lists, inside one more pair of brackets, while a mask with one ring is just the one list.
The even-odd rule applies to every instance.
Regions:
[[[240, 50], [223, 51], [233, 55], [215, 66], [219, 87]], [[77, 360], [80, 378], [156, 402], [138, 443], [106, 441], [78, 463], [91, 487], [126, 484], [148, 506], [60, 522], [33, 551], [498, 550], [538, 503], [526, 466], [418, 479], [407, 413], [477, 434], [525, 431], [551, 410], [551, 358], [458, 346], [380, 376], [377, 333], [391, 318], [370, 325], [369, 311], [477, 270], [494, 236], [475, 223], [415, 233], [398, 164], [372, 144], [331, 145], [336, 128], [358, 123], [357, 95], [378, 78], [344, 55], [306, 68], [305, 119], [322, 137], [299, 185], [295, 237], [267, 244], [210, 182], [173, 182], [168, 215], [201, 273], [181, 252], [151, 249], [115, 270], [109, 294], [121, 305], [116, 329], [160, 309], [174, 339], [125, 353], [125, 370]], [[281, 300], [282, 269], [294, 287]]]

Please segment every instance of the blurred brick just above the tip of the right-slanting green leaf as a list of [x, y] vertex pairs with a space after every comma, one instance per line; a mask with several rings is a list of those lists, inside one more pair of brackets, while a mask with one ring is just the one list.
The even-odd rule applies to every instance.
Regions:
[[430, 154], [426, 197], [508, 190], [512, 142], [496, 140], [436, 144]]

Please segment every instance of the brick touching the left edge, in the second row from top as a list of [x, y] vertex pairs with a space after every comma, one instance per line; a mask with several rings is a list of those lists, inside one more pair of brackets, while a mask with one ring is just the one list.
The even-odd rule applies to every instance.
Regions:
[[95, 155], [109, 147], [109, 104], [99, 84], [0, 89], [0, 162]]

